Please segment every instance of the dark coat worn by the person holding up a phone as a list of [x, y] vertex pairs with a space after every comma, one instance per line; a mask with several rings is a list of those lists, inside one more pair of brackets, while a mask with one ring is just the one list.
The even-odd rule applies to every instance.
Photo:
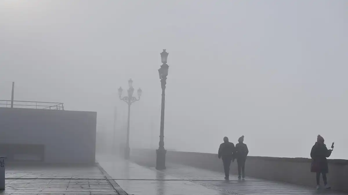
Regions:
[[331, 152], [331, 150], [327, 150], [325, 144], [316, 142], [310, 151], [310, 157], [313, 159], [311, 172], [328, 173], [329, 167], [326, 158], [330, 157]]

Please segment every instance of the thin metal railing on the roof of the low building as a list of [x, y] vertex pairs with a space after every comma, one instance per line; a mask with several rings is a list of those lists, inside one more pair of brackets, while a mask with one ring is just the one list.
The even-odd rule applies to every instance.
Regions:
[[[11, 100], [0, 100], [0, 107], [11, 108]], [[64, 104], [59, 102], [13, 101], [13, 108], [64, 110]]]

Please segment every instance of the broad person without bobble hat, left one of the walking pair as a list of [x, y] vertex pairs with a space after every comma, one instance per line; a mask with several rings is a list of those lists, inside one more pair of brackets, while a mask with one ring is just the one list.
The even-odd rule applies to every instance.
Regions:
[[222, 158], [223, 168], [225, 170], [225, 179], [229, 180], [230, 165], [236, 153], [235, 145], [228, 141], [228, 137], [223, 138], [223, 143], [220, 144], [218, 157]]

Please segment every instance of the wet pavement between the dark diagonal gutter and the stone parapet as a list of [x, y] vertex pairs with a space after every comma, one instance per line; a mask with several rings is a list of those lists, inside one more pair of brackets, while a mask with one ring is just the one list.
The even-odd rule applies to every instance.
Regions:
[[97, 156], [97, 159], [121, 188], [134, 195], [345, 194], [316, 190], [315, 185], [306, 187], [256, 178], [239, 181], [236, 176], [231, 176], [230, 181], [226, 182], [221, 172], [179, 164], [167, 163], [166, 170], [157, 171], [153, 167], [106, 156]]

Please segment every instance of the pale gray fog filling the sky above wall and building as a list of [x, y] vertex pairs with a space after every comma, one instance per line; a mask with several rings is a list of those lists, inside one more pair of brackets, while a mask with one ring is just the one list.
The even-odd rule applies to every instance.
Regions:
[[[244, 135], [250, 155], [309, 157], [316, 136], [347, 159], [348, 2], [0, 2], [0, 99], [98, 112], [104, 144], [158, 147], [160, 52], [169, 53], [165, 148], [216, 153]], [[116, 136], [113, 136], [114, 108]]]

